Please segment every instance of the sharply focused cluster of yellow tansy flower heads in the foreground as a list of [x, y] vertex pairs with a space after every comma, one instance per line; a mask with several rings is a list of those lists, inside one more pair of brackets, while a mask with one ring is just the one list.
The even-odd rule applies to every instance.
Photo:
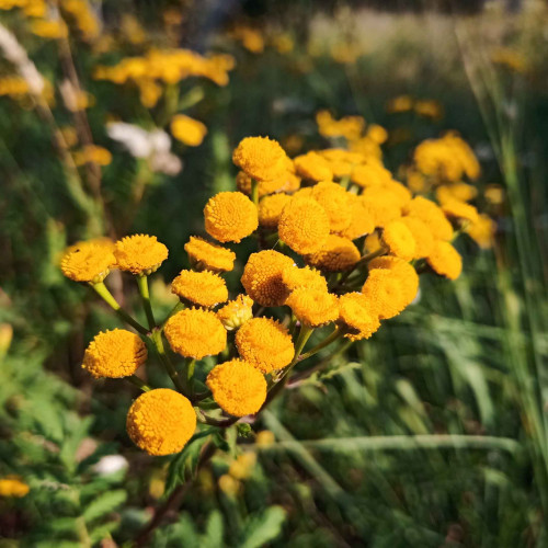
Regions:
[[[79, 243], [61, 261], [67, 277], [89, 284], [127, 323], [99, 333], [82, 365], [142, 390], [127, 432], [150, 455], [181, 452], [197, 423], [217, 433], [253, 423], [284, 387], [318, 368], [306, 367], [308, 358], [368, 339], [399, 315], [416, 296], [419, 273], [456, 279], [461, 271], [452, 242], [473, 206], [413, 196], [377, 155], [327, 149], [292, 160], [275, 140], [248, 137], [232, 158], [238, 190], [207, 202], [208, 237], [185, 244], [191, 269], [172, 281], [180, 302], [167, 319], [158, 321], [148, 290], [148, 277], [168, 259], [156, 237]], [[235, 244], [247, 238], [258, 250], [241, 256]], [[241, 287], [229, 290], [222, 276], [237, 260], [244, 264]], [[104, 284], [113, 269], [135, 277], [147, 326]], [[308, 347], [315, 332], [318, 343]], [[147, 343], [171, 377], [169, 388], [136, 375]], [[217, 365], [206, 373], [208, 356]]]

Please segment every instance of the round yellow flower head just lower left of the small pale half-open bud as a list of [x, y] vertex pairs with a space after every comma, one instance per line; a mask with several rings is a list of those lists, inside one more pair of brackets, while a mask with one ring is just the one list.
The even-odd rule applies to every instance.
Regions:
[[167, 321], [163, 333], [173, 352], [195, 359], [214, 356], [227, 345], [227, 331], [210, 310], [182, 310]]

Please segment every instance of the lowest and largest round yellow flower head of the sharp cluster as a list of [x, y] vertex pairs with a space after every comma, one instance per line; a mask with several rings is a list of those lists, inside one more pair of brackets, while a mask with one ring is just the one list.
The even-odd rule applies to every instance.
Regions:
[[181, 393], [158, 388], [141, 393], [127, 413], [127, 433], [149, 455], [179, 453], [196, 430], [196, 413]]

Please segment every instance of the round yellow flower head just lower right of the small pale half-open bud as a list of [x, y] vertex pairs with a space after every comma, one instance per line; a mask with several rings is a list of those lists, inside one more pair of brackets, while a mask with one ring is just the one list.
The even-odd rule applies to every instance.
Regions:
[[287, 329], [270, 318], [247, 321], [236, 333], [236, 345], [240, 356], [262, 373], [284, 368], [295, 354]]

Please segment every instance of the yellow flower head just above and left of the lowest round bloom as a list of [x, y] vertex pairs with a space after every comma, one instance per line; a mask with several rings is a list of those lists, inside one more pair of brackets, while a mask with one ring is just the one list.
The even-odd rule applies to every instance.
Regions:
[[133, 375], [147, 361], [147, 346], [139, 335], [125, 329], [95, 335], [83, 355], [82, 367], [95, 378]]

